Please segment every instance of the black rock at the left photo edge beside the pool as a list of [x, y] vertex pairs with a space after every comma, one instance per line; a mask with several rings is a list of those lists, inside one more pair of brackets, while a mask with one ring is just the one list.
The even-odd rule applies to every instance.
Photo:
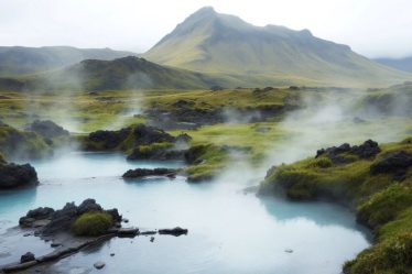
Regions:
[[30, 164], [0, 163], [0, 189], [35, 186], [37, 173]]

